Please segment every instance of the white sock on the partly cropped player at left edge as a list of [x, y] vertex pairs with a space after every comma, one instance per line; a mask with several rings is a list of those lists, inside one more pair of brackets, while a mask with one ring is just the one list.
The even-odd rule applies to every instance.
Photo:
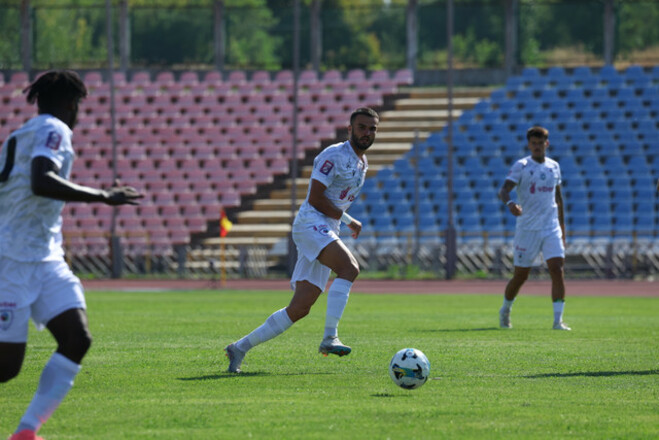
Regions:
[[79, 371], [80, 365], [59, 353], [53, 353], [41, 373], [37, 392], [21, 418], [16, 432], [24, 429], [38, 431], [62, 403]]

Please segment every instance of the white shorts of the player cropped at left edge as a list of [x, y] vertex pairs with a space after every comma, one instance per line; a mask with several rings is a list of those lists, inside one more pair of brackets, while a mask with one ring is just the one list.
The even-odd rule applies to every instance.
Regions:
[[60, 313], [86, 308], [82, 284], [64, 260], [0, 257], [0, 342], [27, 342], [30, 317], [43, 330]]

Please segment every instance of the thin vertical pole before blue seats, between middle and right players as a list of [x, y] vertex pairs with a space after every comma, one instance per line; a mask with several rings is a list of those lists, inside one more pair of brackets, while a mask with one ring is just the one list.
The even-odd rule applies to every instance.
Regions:
[[446, 3], [446, 44], [448, 49], [446, 90], [448, 94], [448, 121], [446, 144], [448, 145], [448, 226], [444, 240], [446, 243], [446, 279], [455, 277], [457, 266], [457, 237], [453, 219], [453, 0]]

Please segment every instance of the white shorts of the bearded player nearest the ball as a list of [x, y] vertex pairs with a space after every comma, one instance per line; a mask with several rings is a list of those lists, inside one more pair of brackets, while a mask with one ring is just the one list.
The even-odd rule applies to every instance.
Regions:
[[331, 269], [316, 258], [325, 247], [339, 239], [338, 234], [327, 224], [303, 224], [293, 226], [293, 241], [297, 246], [297, 262], [291, 277], [291, 289], [298, 281], [309, 281], [325, 290]]

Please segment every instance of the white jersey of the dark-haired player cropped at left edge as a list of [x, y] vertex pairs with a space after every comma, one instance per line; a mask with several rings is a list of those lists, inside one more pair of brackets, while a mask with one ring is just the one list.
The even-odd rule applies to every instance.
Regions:
[[[62, 178], [69, 179], [75, 157], [72, 134], [64, 122], [42, 114], [12, 132], [2, 145], [0, 255], [25, 262], [62, 258], [64, 202], [32, 193], [31, 162], [45, 156], [57, 164]], [[15, 148], [9, 147], [12, 139]]]

